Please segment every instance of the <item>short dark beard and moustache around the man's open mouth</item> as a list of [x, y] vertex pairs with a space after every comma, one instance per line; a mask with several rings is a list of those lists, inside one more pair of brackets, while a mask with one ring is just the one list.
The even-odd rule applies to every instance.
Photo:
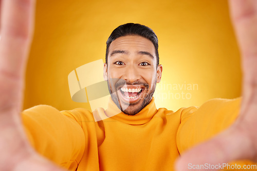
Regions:
[[[109, 93], [111, 94], [111, 97], [117, 107], [126, 115], [136, 115], [152, 100], [156, 88], [156, 79], [154, 80], [154, 84], [152, 85], [151, 90], [149, 90], [149, 84], [142, 81], [130, 82], [119, 78], [111, 78], [107, 79], [107, 84]], [[120, 87], [124, 85], [142, 85], [145, 87], [146, 93], [143, 94], [143, 96], [137, 102], [124, 102], [118, 96], [118, 91], [120, 91]]]

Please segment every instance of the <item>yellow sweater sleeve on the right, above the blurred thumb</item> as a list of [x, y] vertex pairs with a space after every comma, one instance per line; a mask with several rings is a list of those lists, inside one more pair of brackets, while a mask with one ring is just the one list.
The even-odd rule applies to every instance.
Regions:
[[241, 98], [212, 99], [193, 112], [181, 113], [177, 132], [179, 153], [225, 130], [237, 118]]

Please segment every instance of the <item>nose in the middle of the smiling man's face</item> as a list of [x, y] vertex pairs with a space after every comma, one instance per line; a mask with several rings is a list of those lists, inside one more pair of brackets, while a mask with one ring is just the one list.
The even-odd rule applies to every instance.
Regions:
[[131, 66], [127, 66], [122, 78], [124, 80], [130, 81], [131, 83], [137, 80], [140, 80], [141, 76], [140, 76], [140, 72], [138, 71], [137, 67], [131, 65]]

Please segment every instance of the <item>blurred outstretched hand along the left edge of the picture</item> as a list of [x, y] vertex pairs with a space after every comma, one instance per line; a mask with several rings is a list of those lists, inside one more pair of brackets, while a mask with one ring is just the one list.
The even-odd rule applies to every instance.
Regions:
[[60, 170], [33, 151], [20, 117], [35, 1], [0, 0], [0, 4], [0, 168]]

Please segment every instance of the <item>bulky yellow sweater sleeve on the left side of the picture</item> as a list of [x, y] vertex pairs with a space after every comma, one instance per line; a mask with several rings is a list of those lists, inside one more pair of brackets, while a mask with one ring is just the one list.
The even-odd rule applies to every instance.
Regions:
[[76, 170], [85, 148], [80, 124], [48, 105], [23, 111], [24, 129], [35, 150], [57, 165]]

